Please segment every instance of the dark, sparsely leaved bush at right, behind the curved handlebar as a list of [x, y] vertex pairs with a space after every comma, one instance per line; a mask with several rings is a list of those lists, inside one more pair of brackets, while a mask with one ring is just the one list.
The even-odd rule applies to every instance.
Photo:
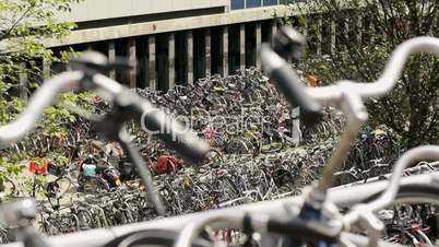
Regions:
[[[300, 67], [322, 81], [378, 79], [394, 48], [413, 37], [439, 36], [439, 1], [319, 0], [290, 5], [300, 16], [281, 19], [308, 33], [308, 51]], [[306, 14], [312, 13], [322, 14]], [[322, 25], [318, 25], [321, 17]], [[305, 26], [300, 20], [306, 19]], [[331, 25], [335, 46], [331, 47]], [[322, 33], [322, 52], [316, 52], [317, 34]], [[394, 129], [407, 146], [439, 140], [439, 59], [412, 56], [403, 75], [388, 96], [368, 104], [370, 122]]]

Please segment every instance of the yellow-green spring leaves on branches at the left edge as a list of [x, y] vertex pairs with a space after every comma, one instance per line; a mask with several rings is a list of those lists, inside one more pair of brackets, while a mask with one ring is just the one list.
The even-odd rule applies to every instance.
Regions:
[[[72, 22], [60, 21], [57, 13], [70, 11], [73, 3], [81, 0], [0, 0], [0, 122], [9, 122], [26, 106], [25, 96], [44, 80], [43, 63], [66, 61], [68, 56], [55, 56], [45, 47], [44, 39], [62, 39], [75, 27]], [[27, 84], [20, 84], [25, 74]], [[21, 94], [21, 95], [20, 95]], [[60, 101], [75, 103], [78, 96], [64, 94]], [[62, 137], [63, 122], [74, 121], [69, 110], [54, 106], [45, 111], [33, 134]], [[23, 160], [39, 154], [0, 151], [0, 181], [4, 176], [19, 175], [23, 170]], [[32, 178], [29, 178], [32, 179]], [[1, 183], [0, 183], [1, 184]]]

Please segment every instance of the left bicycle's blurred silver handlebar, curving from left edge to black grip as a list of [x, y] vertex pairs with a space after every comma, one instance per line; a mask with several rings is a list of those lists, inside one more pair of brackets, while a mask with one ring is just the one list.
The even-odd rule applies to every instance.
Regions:
[[96, 90], [105, 99], [127, 106], [127, 115], [131, 114], [132, 119], [141, 121], [142, 126], [146, 127], [145, 130], [156, 133], [156, 137], [190, 162], [197, 163], [207, 153], [209, 145], [205, 141], [155, 108], [149, 101], [103, 74], [95, 73], [90, 77], [82, 71], [64, 72], [43, 83], [17, 119], [0, 127], [0, 143], [17, 141], [31, 131], [43, 116], [44, 109], [55, 102], [58, 93], [82, 89]]

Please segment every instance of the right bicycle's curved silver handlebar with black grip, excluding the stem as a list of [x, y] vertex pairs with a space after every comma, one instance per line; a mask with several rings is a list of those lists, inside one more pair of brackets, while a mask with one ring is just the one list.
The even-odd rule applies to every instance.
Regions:
[[[382, 75], [375, 82], [359, 83], [342, 80], [333, 85], [322, 87], [305, 86], [297, 73], [287, 66], [288, 63], [274, 52], [266, 44], [261, 47], [261, 61], [268, 73], [273, 73], [282, 68], [282, 75], [277, 75], [284, 94], [293, 104], [311, 111], [319, 110], [321, 106], [336, 105], [347, 95], [359, 101], [382, 96], [393, 89], [400, 79], [402, 70], [408, 57], [416, 52], [429, 52], [439, 56], [439, 38], [416, 37], [402, 43], [392, 52]], [[284, 71], [285, 70], [285, 71]], [[287, 71], [286, 71], [287, 70]], [[281, 73], [281, 72], [275, 72]], [[346, 95], [347, 94], [347, 95]], [[352, 104], [352, 103], [351, 103]], [[349, 116], [348, 116], [349, 117]]]

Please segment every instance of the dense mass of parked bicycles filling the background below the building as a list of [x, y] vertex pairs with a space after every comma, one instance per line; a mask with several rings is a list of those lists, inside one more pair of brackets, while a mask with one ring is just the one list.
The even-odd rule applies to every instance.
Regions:
[[[242, 84], [244, 82], [247, 82], [247, 86]], [[233, 86], [232, 84], [239, 86]], [[225, 87], [226, 85], [228, 86], [227, 89]], [[197, 95], [203, 95], [198, 96], [201, 98], [209, 96], [207, 102], [212, 101], [210, 98], [215, 98], [214, 102], [210, 103], [200, 101], [203, 104], [200, 103], [198, 106], [198, 111], [203, 114], [197, 115], [199, 121], [195, 122], [194, 128], [200, 134], [209, 136], [205, 131], [206, 128], [214, 128], [213, 126], [209, 127], [211, 124], [207, 119], [209, 116], [228, 117], [229, 115], [235, 116], [242, 113], [239, 107], [245, 106], [233, 107], [227, 105], [229, 102], [233, 102], [232, 98], [228, 98], [229, 95], [241, 95], [240, 97], [252, 98], [251, 96], [242, 95], [260, 95], [265, 93], [266, 95], [264, 94], [261, 97], [268, 97], [268, 101], [242, 99], [242, 102], [244, 104], [251, 104], [253, 108], [258, 106], [261, 110], [260, 116], [264, 116], [264, 118], [269, 117], [264, 119], [268, 122], [275, 121], [275, 116], [281, 114], [278, 111], [273, 114], [272, 109], [277, 108], [284, 111], [284, 116], [286, 117], [283, 119], [283, 124], [287, 122], [285, 124], [285, 129], [292, 128], [293, 122], [289, 118], [290, 111], [287, 104], [275, 90], [271, 90], [271, 86], [260, 71], [249, 69], [240, 74], [224, 79], [218, 77], [203, 79], [194, 85], [187, 87], [178, 86], [176, 91], [170, 91], [166, 94], [139, 89], [137, 92], [156, 104], [175, 107], [181, 114], [185, 114], [185, 107], [190, 107], [189, 103], [181, 104], [180, 101], [171, 101], [170, 98], [183, 98], [187, 102], [191, 102], [192, 97], [197, 97]], [[197, 91], [198, 93], [194, 93]], [[268, 92], [270, 93], [268, 94]], [[224, 103], [225, 105], [217, 105], [220, 101], [226, 102]], [[283, 103], [278, 104], [278, 102]], [[201, 109], [201, 107], [204, 108]], [[110, 107], [105, 102], [95, 101], [91, 109], [95, 114], [105, 114], [110, 110]], [[268, 113], [273, 115], [265, 116]], [[249, 111], [247, 114], [251, 115]], [[276, 120], [280, 121], [278, 119]], [[93, 193], [97, 195], [97, 197], [100, 197], [98, 195], [106, 195], [103, 198], [112, 195], [115, 196], [114, 199], [103, 200], [103, 203], [106, 203], [106, 201], [116, 202], [119, 198], [118, 195], [121, 191], [126, 191], [124, 185], [121, 185], [121, 183], [124, 184], [139, 178], [135, 167], [127, 161], [123, 150], [119, 144], [115, 142], [104, 143], [92, 139], [97, 133], [94, 133], [95, 130], [91, 127], [90, 122], [86, 119], [80, 118], [79, 122], [79, 128], [69, 128], [68, 131], [74, 133], [78, 129], [87, 132], [84, 132], [84, 134], [69, 134], [64, 140], [64, 144], [71, 146], [71, 149], [50, 146], [41, 140], [39, 142], [38, 139], [35, 139], [36, 141], [34, 140], [33, 142], [35, 144], [34, 148], [38, 149], [39, 152], [51, 153], [52, 155], [58, 152], [59, 155], [70, 157], [70, 163], [63, 166], [54, 161], [39, 161], [37, 162], [38, 164], [35, 164], [35, 161], [29, 163], [29, 169], [35, 176], [50, 175], [47, 176], [50, 177], [48, 181], [34, 186], [33, 191], [29, 192], [35, 195], [35, 192], [44, 191], [43, 199], [49, 202], [46, 207], [49, 207], [54, 211], [50, 214], [44, 214], [45, 216], [41, 215], [43, 220], [46, 219], [41, 224], [51, 225], [50, 227], [43, 227], [50, 235], [103, 226], [98, 221], [94, 221], [87, 225], [74, 223], [85, 221], [68, 216], [70, 213], [60, 213], [66, 212], [64, 209], [61, 209], [63, 207], [60, 205], [62, 201], [70, 201], [72, 198], [82, 198], [83, 202], [81, 202], [81, 207], [84, 208], [84, 203], [86, 203], [84, 198], [87, 197], [86, 195]], [[178, 215], [299, 193], [301, 188], [309, 185], [319, 176], [323, 165], [328, 162], [336, 144], [334, 137], [340, 132], [341, 126], [340, 116], [335, 115], [334, 117], [333, 111], [329, 110], [320, 125], [312, 129], [302, 129], [305, 140], [300, 146], [295, 148], [295, 143], [287, 142], [286, 140], [292, 139], [290, 132], [283, 131], [285, 134], [281, 136], [285, 138], [282, 139], [285, 142], [277, 146], [278, 149], [274, 149], [273, 145], [265, 150], [257, 149], [257, 145], [253, 145], [251, 140], [257, 139], [257, 137], [249, 134], [249, 132], [216, 132], [215, 130], [211, 133], [211, 138], [214, 140], [211, 144], [212, 148], [220, 150], [220, 154], [216, 154], [216, 160], [210, 161], [197, 169], [185, 166], [182, 161], [175, 156], [174, 152], [169, 152], [162, 143], [145, 136], [141, 129], [132, 128], [131, 132], [134, 134], [137, 142], [142, 143], [139, 144], [142, 156], [149, 161], [147, 164], [155, 174], [155, 186], [164, 198], [168, 211], [173, 215]], [[256, 128], [260, 128], [260, 126], [256, 126]], [[266, 125], [264, 128], [269, 128], [272, 131], [281, 131], [278, 125]], [[258, 129], [254, 129], [254, 133], [257, 131]], [[254, 137], [254, 139], [251, 139], [251, 137]], [[275, 143], [275, 140], [270, 140], [270, 138], [266, 138], [265, 141], [271, 144]], [[31, 146], [34, 144], [31, 144]], [[22, 145], [25, 146], [25, 142]], [[17, 145], [15, 145], [15, 149], [17, 149]], [[265, 152], [270, 150], [276, 152]], [[259, 151], [262, 152], [259, 153]], [[173, 155], [166, 155], [168, 153]], [[348, 157], [349, 162], [345, 164], [344, 172], [336, 174], [337, 183], [343, 185], [355, 180], [366, 180], [368, 177], [387, 173], [391, 169], [391, 166], [384, 166], [383, 164], [392, 163], [400, 153], [399, 143], [394, 140], [394, 134], [390, 129], [380, 127], [376, 130], [365, 131], [360, 134], [358, 141], [355, 142], [353, 152], [351, 152]], [[237, 166], [236, 164], [240, 165]], [[13, 191], [10, 191], [10, 195], [15, 197], [24, 196], [12, 180], [10, 183], [14, 188]], [[107, 193], [115, 189], [118, 189], [116, 190], [118, 192]], [[128, 193], [135, 193], [137, 191]], [[144, 195], [138, 196], [143, 198], [143, 200], [140, 199], [140, 202], [143, 201], [145, 203], [143, 207], [151, 208], [151, 204], [146, 203], [147, 200], [144, 198]], [[73, 208], [67, 212], [78, 211], [76, 205], [71, 207]], [[110, 209], [111, 207], [100, 208]], [[92, 212], [96, 211], [95, 209], [87, 210]], [[140, 211], [138, 210], [138, 212]], [[114, 214], [115, 212], [106, 212], [105, 215]], [[109, 225], [115, 225], [157, 216], [155, 211], [151, 209], [142, 217], [123, 215], [123, 213], [119, 215], [123, 217], [120, 221], [107, 219], [106, 222], [112, 222]], [[60, 220], [61, 217], [62, 221]], [[112, 219], [114, 216], [110, 217]], [[58, 221], [57, 219], [64, 226], [50, 223]], [[71, 224], [67, 223], [67, 219], [70, 219]]]

